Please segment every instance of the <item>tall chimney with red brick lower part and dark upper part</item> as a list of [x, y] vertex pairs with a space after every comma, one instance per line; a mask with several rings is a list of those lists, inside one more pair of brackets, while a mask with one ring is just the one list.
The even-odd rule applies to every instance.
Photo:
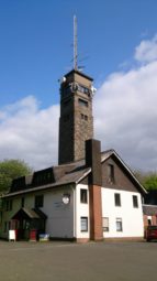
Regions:
[[91, 173], [89, 176], [90, 239], [100, 241], [103, 239], [100, 141], [93, 139], [86, 141], [86, 165], [91, 167]]

